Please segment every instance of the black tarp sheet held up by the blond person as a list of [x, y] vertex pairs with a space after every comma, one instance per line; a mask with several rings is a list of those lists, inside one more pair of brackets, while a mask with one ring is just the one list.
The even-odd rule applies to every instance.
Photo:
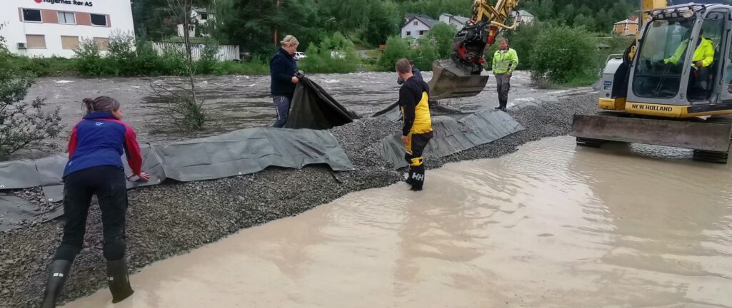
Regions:
[[331, 97], [321, 86], [300, 78], [290, 105], [285, 128], [331, 129], [358, 119]]

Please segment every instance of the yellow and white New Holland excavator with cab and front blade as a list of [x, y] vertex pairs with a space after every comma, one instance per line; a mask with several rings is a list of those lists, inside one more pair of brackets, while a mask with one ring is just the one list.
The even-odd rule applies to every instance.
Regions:
[[600, 110], [574, 116], [569, 135], [579, 146], [646, 143], [727, 163], [732, 6], [695, 2], [641, 1], [637, 39], [624, 54], [608, 57], [602, 71]]

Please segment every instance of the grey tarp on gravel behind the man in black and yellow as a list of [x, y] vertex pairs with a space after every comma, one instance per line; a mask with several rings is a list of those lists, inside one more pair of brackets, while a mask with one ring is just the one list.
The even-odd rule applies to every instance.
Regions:
[[[483, 110], [459, 120], [433, 116], [432, 127], [434, 137], [427, 144], [425, 155], [433, 157], [445, 157], [523, 130], [508, 113], [498, 110]], [[381, 140], [381, 157], [392, 162], [396, 169], [408, 165], [400, 136], [397, 133]]]

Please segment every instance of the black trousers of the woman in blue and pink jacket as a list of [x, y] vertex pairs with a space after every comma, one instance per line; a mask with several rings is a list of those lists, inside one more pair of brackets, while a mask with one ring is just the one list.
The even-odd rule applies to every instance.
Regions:
[[124, 258], [127, 213], [127, 179], [124, 170], [113, 166], [84, 169], [64, 179], [64, 238], [53, 260], [72, 261], [81, 251], [86, 233], [91, 196], [96, 194], [102, 210], [104, 258]]

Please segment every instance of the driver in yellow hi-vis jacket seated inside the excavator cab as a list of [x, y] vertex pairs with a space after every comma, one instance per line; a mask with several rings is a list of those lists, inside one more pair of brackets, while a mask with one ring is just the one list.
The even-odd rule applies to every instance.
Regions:
[[[686, 36], [690, 35], [691, 31], [687, 32]], [[689, 44], [689, 38], [681, 41], [681, 44], [676, 51], [670, 57], [663, 59], [663, 64], [679, 64], [679, 61], [683, 61], [681, 57], [684, 56], [684, 50], [687, 50]], [[689, 85], [692, 89], [706, 91], [707, 83], [709, 83], [709, 66], [714, 63], [714, 42], [703, 36], [703, 31], [699, 32], [699, 40], [696, 43], [696, 49], [692, 57], [692, 67], [695, 70], [691, 73]]]

